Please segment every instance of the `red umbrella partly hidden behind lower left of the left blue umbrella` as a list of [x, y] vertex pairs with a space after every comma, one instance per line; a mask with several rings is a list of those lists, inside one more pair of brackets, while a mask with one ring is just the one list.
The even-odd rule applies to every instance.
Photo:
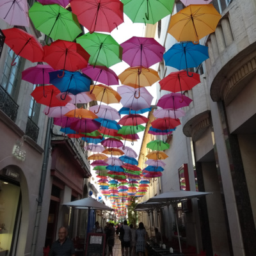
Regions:
[[44, 88], [43, 86], [36, 87], [35, 90], [33, 90], [31, 93], [31, 96], [36, 100], [36, 102], [44, 104], [45, 106], [49, 106], [49, 108], [65, 106], [68, 103], [66, 100], [58, 100], [56, 98], [56, 95], [59, 93], [60, 90], [54, 85], [47, 85], [44, 86]]

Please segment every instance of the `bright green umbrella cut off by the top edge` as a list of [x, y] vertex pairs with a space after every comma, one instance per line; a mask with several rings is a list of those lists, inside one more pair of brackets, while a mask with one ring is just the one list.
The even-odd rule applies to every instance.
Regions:
[[174, 0], [121, 0], [124, 13], [134, 23], [155, 24], [172, 14]]

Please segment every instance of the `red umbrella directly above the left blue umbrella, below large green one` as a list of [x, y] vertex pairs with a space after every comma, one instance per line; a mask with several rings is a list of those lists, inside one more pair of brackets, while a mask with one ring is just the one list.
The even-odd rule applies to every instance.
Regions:
[[56, 70], [77, 71], [87, 67], [90, 54], [80, 44], [64, 40], [56, 40], [44, 46], [44, 61]]

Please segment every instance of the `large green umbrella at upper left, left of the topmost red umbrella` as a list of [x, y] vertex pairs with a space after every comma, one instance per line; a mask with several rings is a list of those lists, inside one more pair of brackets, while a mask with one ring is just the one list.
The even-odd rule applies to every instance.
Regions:
[[54, 40], [72, 42], [82, 32], [76, 15], [59, 4], [36, 2], [29, 9], [29, 17], [36, 29]]

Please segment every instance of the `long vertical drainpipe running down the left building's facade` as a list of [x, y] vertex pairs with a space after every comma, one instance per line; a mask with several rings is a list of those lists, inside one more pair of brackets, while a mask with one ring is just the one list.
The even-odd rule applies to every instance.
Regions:
[[35, 221], [35, 227], [34, 227], [33, 238], [32, 238], [31, 256], [35, 256], [35, 250], [36, 250], [36, 242], [38, 237], [39, 222], [41, 217], [42, 202], [43, 202], [43, 196], [44, 196], [45, 179], [46, 179], [47, 166], [49, 162], [49, 154], [50, 154], [50, 147], [51, 147], [51, 131], [52, 131], [52, 118], [49, 118], [48, 124], [47, 124], [46, 136], [45, 136], [44, 161], [42, 164], [40, 188], [39, 188], [39, 195], [37, 200], [38, 204], [36, 209], [36, 221]]

